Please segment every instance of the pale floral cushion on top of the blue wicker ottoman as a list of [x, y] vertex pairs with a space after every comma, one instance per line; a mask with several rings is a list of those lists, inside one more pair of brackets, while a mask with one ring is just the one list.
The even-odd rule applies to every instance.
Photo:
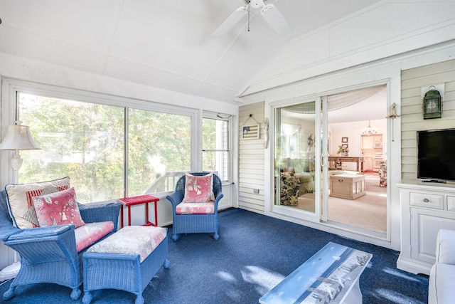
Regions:
[[139, 254], [142, 263], [166, 239], [167, 229], [152, 226], [126, 226], [95, 243], [87, 252]]

